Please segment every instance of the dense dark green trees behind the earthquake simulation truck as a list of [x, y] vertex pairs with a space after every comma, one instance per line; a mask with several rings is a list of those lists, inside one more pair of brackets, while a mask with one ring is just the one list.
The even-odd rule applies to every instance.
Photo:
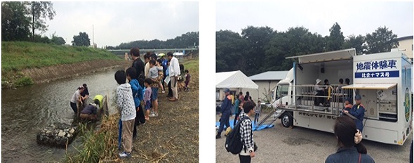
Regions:
[[397, 35], [387, 27], [378, 27], [365, 36], [354, 34], [344, 37], [337, 22], [330, 34], [309, 32], [305, 27], [291, 27], [278, 32], [271, 27], [248, 26], [241, 34], [229, 30], [216, 32], [216, 72], [241, 70], [247, 76], [267, 71], [290, 70], [295, 59], [310, 53], [355, 48], [357, 54], [390, 51], [398, 46]]

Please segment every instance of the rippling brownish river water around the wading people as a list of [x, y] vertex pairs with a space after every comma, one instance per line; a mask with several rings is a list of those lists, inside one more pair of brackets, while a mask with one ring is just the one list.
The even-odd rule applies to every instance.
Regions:
[[[1, 162], [61, 162], [66, 150], [38, 145], [36, 134], [50, 124], [72, 124], [74, 112], [69, 100], [81, 84], [88, 84], [91, 98], [97, 94], [113, 98], [118, 86], [114, 74], [122, 69], [117, 67], [17, 90], [1, 90]], [[112, 105], [113, 100], [109, 103]], [[79, 141], [69, 146], [74, 144]]]

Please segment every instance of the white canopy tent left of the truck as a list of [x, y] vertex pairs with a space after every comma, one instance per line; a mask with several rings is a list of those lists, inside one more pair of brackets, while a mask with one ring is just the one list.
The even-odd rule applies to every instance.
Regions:
[[[246, 74], [240, 70], [232, 72], [215, 73], [216, 89], [255, 89], [259, 92], [258, 84], [255, 84]], [[252, 97], [253, 98], [253, 97]]]

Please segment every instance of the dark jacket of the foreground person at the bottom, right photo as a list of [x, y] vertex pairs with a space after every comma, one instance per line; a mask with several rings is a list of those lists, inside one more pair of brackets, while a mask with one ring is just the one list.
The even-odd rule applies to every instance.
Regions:
[[[359, 161], [359, 152], [355, 147], [352, 148], [339, 148], [336, 153], [329, 155], [326, 158], [326, 163], [348, 163], [348, 162], [358, 162]], [[366, 154], [361, 154], [361, 163], [371, 163], [375, 162], [372, 157]]]

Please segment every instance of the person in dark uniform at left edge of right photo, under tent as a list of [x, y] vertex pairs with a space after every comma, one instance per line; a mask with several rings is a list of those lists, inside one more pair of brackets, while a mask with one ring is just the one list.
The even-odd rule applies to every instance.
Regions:
[[220, 108], [220, 115], [218, 115], [220, 118], [220, 126], [217, 131], [217, 135], [215, 138], [221, 138], [221, 133], [223, 131], [224, 126], [226, 125], [226, 128], [230, 126], [229, 119], [230, 115], [232, 115], [232, 98], [229, 96], [230, 90], [225, 89], [225, 99], [223, 100], [223, 103]]

